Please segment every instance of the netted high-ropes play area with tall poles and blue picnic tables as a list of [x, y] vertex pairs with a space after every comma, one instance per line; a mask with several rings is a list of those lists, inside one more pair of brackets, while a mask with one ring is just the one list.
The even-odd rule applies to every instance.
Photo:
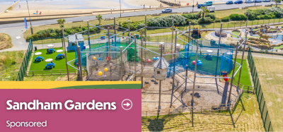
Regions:
[[[114, 18], [109, 25], [88, 24], [88, 30], [64, 36], [63, 49], [40, 51], [44, 56], [35, 52], [42, 58], [34, 57], [30, 68], [40, 66], [36, 63], [41, 63], [40, 68], [46, 71], [67, 65], [78, 71], [77, 80], [81, 81], [141, 81], [141, 110], [158, 110], [158, 115], [162, 109], [180, 107], [230, 110], [241, 100], [243, 90], [231, 81], [242, 63], [236, 62], [233, 54], [244, 46], [246, 38], [238, 36], [243, 42], [232, 44], [223, 41], [222, 33], [231, 35], [223, 30], [209, 30], [218, 34], [218, 40], [213, 40], [202, 35], [207, 30], [197, 28], [181, 31], [174, 26], [145, 26], [130, 30], [115, 22]], [[104, 32], [90, 35], [91, 28]], [[161, 32], [156, 42], [149, 40], [148, 30], [167, 32]], [[162, 41], [168, 40], [169, 35], [171, 42]]]

